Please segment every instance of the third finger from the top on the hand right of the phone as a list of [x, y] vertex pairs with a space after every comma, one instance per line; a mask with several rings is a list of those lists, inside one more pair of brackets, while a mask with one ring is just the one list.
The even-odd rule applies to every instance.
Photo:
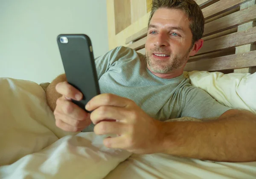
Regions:
[[97, 135], [104, 134], [117, 134], [121, 135], [122, 133], [126, 133], [127, 129], [125, 124], [119, 122], [107, 122], [103, 121], [94, 126], [94, 133]]

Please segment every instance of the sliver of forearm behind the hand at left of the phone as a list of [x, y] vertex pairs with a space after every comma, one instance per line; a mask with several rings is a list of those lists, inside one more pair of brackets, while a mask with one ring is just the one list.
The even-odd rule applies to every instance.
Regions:
[[52, 83], [49, 84], [49, 86], [47, 87], [47, 90], [46, 90], [47, 103], [52, 111], [55, 110], [57, 99], [61, 97], [61, 95], [55, 90], [55, 87], [58, 83], [62, 81], [67, 81], [65, 74], [62, 74], [56, 77], [52, 81]]

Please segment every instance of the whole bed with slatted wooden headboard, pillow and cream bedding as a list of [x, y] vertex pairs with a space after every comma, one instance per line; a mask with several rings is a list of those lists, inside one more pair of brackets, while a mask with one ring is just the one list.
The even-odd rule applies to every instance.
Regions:
[[[255, 0], [197, 3], [205, 44], [186, 65], [186, 78], [221, 104], [256, 114]], [[143, 54], [145, 38], [146, 26], [120, 44]], [[47, 105], [47, 84], [0, 78], [1, 179], [256, 179], [256, 162], [137, 155], [105, 147], [107, 136], [64, 132]]]

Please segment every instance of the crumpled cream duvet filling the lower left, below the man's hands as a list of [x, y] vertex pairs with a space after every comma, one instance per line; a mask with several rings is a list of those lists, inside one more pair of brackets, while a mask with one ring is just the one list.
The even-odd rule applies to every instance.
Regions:
[[106, 136], [56, 127], [38, 84], [0, 78], [0, 86], [0, 178], [101, 179], [131, 155], [105, 147]]

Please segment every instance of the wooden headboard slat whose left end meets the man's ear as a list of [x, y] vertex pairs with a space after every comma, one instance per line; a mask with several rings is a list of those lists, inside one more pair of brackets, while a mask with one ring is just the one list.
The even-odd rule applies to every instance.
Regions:
[[198, 54], [215, 52], [230, 47], [236, 47], [256, 42], [256, 27], [242, 32], [236, 32], [204, 42]]

